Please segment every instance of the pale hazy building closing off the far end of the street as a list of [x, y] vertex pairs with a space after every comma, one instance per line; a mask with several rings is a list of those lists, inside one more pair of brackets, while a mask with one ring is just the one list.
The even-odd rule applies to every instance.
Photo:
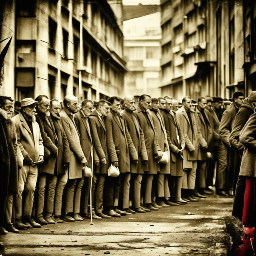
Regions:
[[161, 94], [160, 6], [124, 7], [124, 60], [132, 74], [125, 77], [125, 94]]

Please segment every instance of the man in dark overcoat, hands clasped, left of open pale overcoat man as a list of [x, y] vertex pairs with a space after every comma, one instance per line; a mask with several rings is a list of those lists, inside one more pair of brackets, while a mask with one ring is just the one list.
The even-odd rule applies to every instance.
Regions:
[[176, 118], [176, 112], [172, 110], [172, 98], [165, 97], [166, 107], [160, 109], [164, 118], [168, 146], [170, 149], [170, 188], [172, 189], [171, 201], [167, 204], [177, 205], [172, 201], [181, 200], [182, 176], [183, 176], [183, 156], [182, 152], [185, 148], [185, 140]]

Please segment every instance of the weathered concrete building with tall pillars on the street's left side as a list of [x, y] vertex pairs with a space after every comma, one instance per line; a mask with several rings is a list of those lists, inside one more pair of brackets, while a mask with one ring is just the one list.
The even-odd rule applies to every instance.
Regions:
[[59, 100], [66, 94], [80, 100], [123, 94], [121, 0], [113, 8], [106, 0], [3, 0], [0, 9], [6, 25], [0, 26], [0, 39], [15, 35], [0, 94], [15, 100], [38, 94]]

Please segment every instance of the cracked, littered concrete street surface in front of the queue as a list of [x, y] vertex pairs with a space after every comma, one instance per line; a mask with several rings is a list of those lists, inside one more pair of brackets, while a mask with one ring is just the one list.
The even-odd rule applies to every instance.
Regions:
[[[232, 198], [210, 196], [121, 218], [48, 224], [0, 236], [4, 256], [197, 255], [224, 256], [230, 249], [224, 217]], [[188, 212], [192, 213], [188, 215]]]

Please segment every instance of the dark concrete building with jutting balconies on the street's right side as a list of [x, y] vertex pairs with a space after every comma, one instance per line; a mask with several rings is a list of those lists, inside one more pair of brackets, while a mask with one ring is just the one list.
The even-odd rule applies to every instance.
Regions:
[[255, 2], [162, 0], [162, 94], [255, 90]]

